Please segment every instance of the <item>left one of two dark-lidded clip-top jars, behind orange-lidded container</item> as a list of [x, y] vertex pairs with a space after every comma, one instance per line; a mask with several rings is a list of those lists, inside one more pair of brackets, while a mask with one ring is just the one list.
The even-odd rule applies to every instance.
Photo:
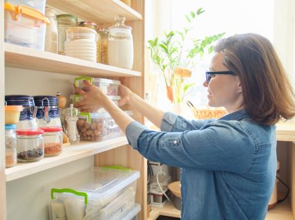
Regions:
[[37, 113], [37, 107], [30, 95], [6, 95], [5, 101], [8, 106], [10, 105], [22, 105], [23, 110], [19, 116], [19, 122], [17, 122], [17, 129], [37, 129], [37, 120], [35, 114]]

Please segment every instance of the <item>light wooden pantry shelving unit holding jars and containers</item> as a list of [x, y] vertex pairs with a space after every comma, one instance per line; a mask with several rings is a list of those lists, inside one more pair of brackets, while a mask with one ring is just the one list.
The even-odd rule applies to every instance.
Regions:
[[[51, 74], [59, 79], [59, 73], [62, 75], [87, 75], [91, 77], [107, 77], [121, 80], [122, 84], [130, 87], [137, 95], [144, 97], [144, 0], [133, 1], [132, 6], [126, 6], [119, 0], [48, 0], [47, 5], [53, 6], [59, 10], [69, 14], [77, 15], [79, 19], [85, 21], [94, 21], [97, 24], [107, 26], [113, 23], [114, 17], [121, 15], [126, 17], [128, 26], [133, 28], [134, 42], [134, 62], [133, 69], [118, 68], [85, 60], [76, 59], [74, 57], [66, 57], [37, 51], [32, 48], [6, 44], [3, 40], [3, 1], [0, 6], [0, 219], [6, 219], [7, 205], [6, 201], [10, 194], [6, 194], [8, 184], [17, 180], [26, 180], [32, 174], [40, 174], [42, 172], [50, 172], [53, 167], [60, 167], [81, 158], [94, 156], [94, 165], [119, 165], [129, 167], [140, 171], [140, 178], [137, 181], [136, 202], [141, 205], [139, 219], [146, 219], [146, 159], [132, 149], [127, 142], [126, 136], [106, 140], [98, 143], [81, 142], [77, 145], [69, 145], [63, 148], [60, 156], [51, 158], [42, 158], [41, 161], [35, 163], [17, 164], [15, 167], [5, 169], [5, 138], [4, 138], [4, 95], [6, 93], [5, 86], [13, 89], [14, 84], [9, 82], [5, 84], [5, 77], [10, 74], [6, 71], [12, 67], [16, 68], [17, 74], [25, 74], [30, 72], [36, 76], [42, 74]], [[5, 59], [5, 60], [4, 60]], [[15, 80], [17, 75], [14, 76]], [[33, 87], [34, 80], [28, 81]], [[28, 82], [24, 82], [27, 84]], [[46, 85], [47, 91], [50, 84]], [[71, 89], [71, 88], [68, 88]], [[56, 92], [56, 91], [52, 91]], [[40, 91], [40, 94], [42, 91]], [[127, 107], [128, 109], [128, 107]], [[144, 118], [140, 113], [134, 112], [133, 118], [139, 122], [144, 122]], [[19, 186], [22, 187], [22, 186]], [[22, 196], [22, 195], [20, 195]], [[26, 198], [20, 198], [26, 199]], [[43, 204], [47, 205], [47, 204]], [[42, 207], [43, 207], [42, 206]], [[31, 212], [31, 210], [27, 210]], [[33, 210], [32, 210], [33, 211]], [[46, 218], [46, 217], [45, 217]]]

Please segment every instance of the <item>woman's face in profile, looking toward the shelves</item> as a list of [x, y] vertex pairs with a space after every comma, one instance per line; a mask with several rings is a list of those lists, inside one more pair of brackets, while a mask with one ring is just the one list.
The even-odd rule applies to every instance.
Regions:
[[[210, 72], [228, 71], [224, 66], [224, 53], [215, 53], [210, 64]], [[208, 87], [208, 104], [210, 107], [224, 107], [228, 113], [242, 109], [242, 87], [237, 75], [211, 75]]]

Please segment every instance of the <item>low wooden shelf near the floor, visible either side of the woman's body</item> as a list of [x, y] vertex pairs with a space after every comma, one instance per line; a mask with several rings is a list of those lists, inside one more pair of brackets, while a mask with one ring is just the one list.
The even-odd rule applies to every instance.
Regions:
[[[167, 203], [163, 208], [151, 207], [148, 220], [155, 220], [160, 215], [167, 217], [180, 218], [180, 210], [176, 209], [173, 203]], [[289, 201], [276, 205], [275, 208], [267, 212], [265, 220], [294, 220]]]

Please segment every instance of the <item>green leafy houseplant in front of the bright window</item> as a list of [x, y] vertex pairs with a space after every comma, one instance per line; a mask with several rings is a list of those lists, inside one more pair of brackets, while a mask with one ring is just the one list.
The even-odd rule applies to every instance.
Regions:
[[[194, 28], [194, 21], [205, 10], [199, 8], [196, 12], [185, 15], [187, 26], [183, 30], [170, 30], [160, 38], [155, 37], [148, 41], [151, 50], [151, 60], [158, 66], [165, 79], [167, 98], [171, 103], [181, 103], [188, 89], [194, 83], [184, 83], [186, 77], [191, 76], [191, 69], [196, 61], [205, 53], [213, 51], [213, 43], [224, 36], [224, 33], [205, 36], [203, 39], [189, 37]], [[189, 45], [189, 46], [188, 46]]]

